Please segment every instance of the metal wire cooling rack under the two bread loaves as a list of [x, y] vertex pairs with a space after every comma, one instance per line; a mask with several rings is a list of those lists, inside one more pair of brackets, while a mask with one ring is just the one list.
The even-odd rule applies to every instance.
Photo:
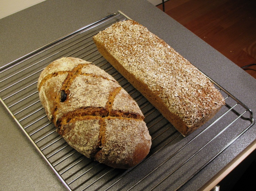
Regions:
[[[226, 106], [208, 123], [183, 137], [98, 52], [92, 36], [129, 19], [121, 12], [64, 36], [0, 68], [0, 101], [68, 190], [178, 190], [253, 124], [252, 112], [214, 81]], [[92, 161], [71, 148], [47, 119], [39, 100], [41, 71], [61, 57], [91, 61], [112, 75], [135, 99], [152, 136], [149, 155], [131, 169]]]

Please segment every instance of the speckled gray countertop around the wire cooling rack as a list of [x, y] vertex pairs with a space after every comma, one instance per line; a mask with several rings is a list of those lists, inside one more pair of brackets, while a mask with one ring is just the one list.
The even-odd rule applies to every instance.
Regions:
[[[80, 27], [121, 10], [146, 26], [256, 113], [256, 80], [146, 0], [46, 0], [0, 19], [0, 66]], [[1, 105], [0, 168], [3, 190], [65, 190]], [[256, 138], [255, 125], [196, 175], [184, 190], [200, 188]], [[217, 167], [216, 167], [217, 166]]]

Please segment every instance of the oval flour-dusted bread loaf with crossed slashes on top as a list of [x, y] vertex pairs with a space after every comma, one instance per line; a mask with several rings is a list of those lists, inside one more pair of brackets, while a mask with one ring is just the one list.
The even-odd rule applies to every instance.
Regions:
[[139, 106], [94, 64], [58, 59], [40, 74], [38, 91], [57, 132], [86, 157], [130, 168], [147, 156], [151, 137]]

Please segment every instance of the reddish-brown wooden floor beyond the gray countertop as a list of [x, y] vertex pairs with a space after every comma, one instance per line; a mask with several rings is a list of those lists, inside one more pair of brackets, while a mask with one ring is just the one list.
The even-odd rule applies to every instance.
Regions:
[[[236, 65], [256, 63], [256, 0], [169, 0], [164, 8]], [[256, 78], [256, 66], [245, 70]]]

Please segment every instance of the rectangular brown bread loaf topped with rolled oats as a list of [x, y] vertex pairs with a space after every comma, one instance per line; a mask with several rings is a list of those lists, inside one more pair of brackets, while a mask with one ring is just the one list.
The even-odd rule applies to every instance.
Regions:
[[113, 24], [93, 40], [102, 56], [184, 136], [225, 104], [204, 74], [133, 20]]

